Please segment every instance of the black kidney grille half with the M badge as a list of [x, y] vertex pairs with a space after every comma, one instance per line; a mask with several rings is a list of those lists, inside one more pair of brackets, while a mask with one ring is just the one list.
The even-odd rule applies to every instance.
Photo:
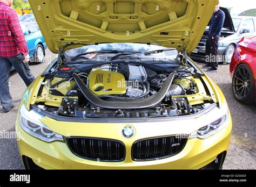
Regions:
[[186, 142], [187, 138], [175, 135], [138, 140], [132, 146], [132, 160], [165, 159], [181, 152]]

